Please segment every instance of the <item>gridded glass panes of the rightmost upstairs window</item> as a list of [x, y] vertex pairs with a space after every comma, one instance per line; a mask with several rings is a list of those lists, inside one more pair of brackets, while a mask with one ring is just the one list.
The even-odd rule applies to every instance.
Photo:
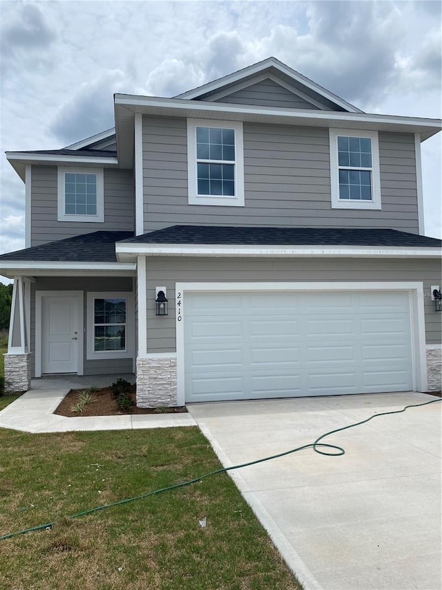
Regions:
[[372, 140], [338, 136], [339, 199], [372, 201]]

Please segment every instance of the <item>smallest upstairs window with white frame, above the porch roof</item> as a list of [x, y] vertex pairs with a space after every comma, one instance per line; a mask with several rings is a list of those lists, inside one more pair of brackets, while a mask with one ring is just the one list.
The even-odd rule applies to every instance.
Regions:
[[104, 221], [102, 169], [58, 169], [58, 221]]

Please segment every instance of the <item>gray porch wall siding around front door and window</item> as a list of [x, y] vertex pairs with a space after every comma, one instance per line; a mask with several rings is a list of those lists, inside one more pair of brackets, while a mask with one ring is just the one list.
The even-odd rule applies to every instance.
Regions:
[[[132, 358], [115, 358], [103, 360], [88, 360], [86, 358], [86, 337], [90, 326], [87, 324], [87, 294], [89, 291], [133, 292], [131, 277], [38, 277], [32, 283], [31, 311], [30, 311], [30, 345], [32, 351], [32, 376], [35, 376], [35, 291], [83, 291], [84, 292], [84, 374], [85, 375], [115, 375], [119, 373], [133, 373]], [[136, 343], [136, 340], [135, 340]]]

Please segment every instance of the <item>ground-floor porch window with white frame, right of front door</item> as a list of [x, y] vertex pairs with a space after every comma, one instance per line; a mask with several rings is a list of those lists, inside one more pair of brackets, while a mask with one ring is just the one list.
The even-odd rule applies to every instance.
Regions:
[[133, 354], [132, 293], [88, 293], [88, 359]]

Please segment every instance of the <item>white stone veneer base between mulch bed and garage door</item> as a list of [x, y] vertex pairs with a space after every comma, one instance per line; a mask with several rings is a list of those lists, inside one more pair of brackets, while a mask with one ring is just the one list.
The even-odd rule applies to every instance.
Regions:
[[177, 405], [177, 358], [175, 353], [154, 353], [137, 358], [137, 406]]

